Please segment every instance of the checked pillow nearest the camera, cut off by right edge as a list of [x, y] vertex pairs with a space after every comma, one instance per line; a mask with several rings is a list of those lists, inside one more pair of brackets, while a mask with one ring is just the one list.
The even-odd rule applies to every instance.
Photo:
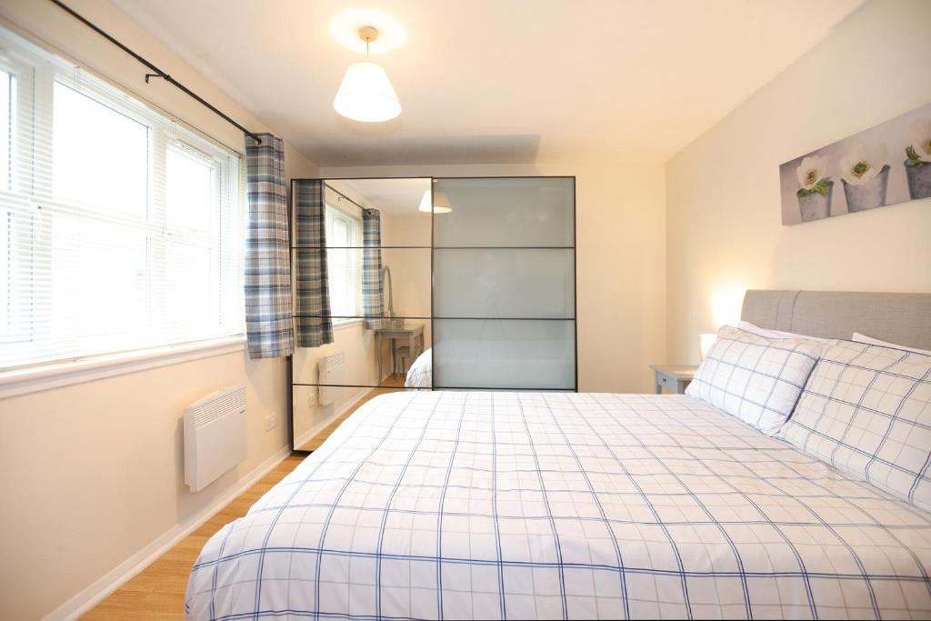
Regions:
[[781, 436], [931, 510], [931, 356], [838, 341], [812, 371]]

